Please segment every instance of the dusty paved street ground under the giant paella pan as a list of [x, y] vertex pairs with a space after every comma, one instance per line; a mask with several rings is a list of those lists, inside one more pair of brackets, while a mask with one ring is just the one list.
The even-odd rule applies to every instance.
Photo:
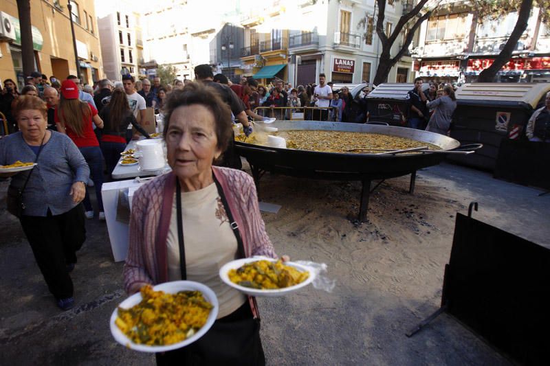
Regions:
[[[455, 165], [419, 172], [414, 196], [407, 187], [408, 177], [382, 184], [370, 221], [356, 226], [347, 216], [358, 209], [357, 183], [263, 178], [263, 199], [283, 205], [264, 214], [278, 253], [325, 262], [338, 283], [333, 293], [310, 286], [260, 299], [269, 365], [509, 364], [446, 315], [411, 339], [404, 333], [439, 305], [456, 211], [478, 201], [476, 218], [548, 245], [550, 195]], [[72, 275], [77, 306], [60, 312], [19, 222], [5, 211], [6, 189], [0, 183], [0, 364], [153, 364], [111, 338], [109, 317], [125, 294], [104, 223], [87, 221]]]

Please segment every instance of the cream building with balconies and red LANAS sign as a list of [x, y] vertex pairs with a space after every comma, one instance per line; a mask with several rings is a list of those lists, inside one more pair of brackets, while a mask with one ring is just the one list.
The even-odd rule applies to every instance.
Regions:
[[[388, 4], [384, 26], [393, 32], [405, 1]], [[244, 73], [263, 81], [288, 80], [294, 85], [318, 82], [325, 73], [335, 83], [372, 82], [382, 46], [373, 32], [374, 0], [270, 1], [243, 14]], [[360, 21], [369, 14], [369, 21]], [[370, 34], [366, 30], [370, 29]], [[366, 34], [366, 35], [365, 35]], [[403, 35], [404, 36], [404, 35]], [[401, 40], [402, 40], [401, 36]], [[397, 53], [399, 43], [394, 45]], [[410, 82], [412, 59], [402, 58], [388, 82]]]

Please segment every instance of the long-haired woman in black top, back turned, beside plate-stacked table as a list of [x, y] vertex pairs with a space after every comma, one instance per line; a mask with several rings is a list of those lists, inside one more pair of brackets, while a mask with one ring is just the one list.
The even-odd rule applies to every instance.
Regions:
[[102, 108], [100, 117], [104, 122], [100, 147], [107, 164], [107, 171], [110, 175], [115, 169], [118, 159], [120, 159], [120, 153], [126, 148], [128, 142], [126, 131], [130, 124], [147, 139], [150, 137], [142, 126], [137, 124], [137, 120], [126, 99], [126, 93], [121, 89], [113, 91], [111, 100], [107, 106]]

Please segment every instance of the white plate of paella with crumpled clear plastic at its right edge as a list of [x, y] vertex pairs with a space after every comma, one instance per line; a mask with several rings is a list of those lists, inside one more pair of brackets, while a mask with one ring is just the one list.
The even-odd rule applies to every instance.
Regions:
[[251, 296], [278, 297], [293, 293], [315, 279], [311, 268], [295, 262], [255, 257], [234, 260], [219, 270], [221, 280]]

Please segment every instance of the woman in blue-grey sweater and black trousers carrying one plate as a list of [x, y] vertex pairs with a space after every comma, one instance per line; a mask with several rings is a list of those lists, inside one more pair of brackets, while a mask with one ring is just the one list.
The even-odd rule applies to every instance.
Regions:
[[46, 129], [45, 102], [21, 96], [14, 115], [20, 132], [0, 140], [0, 165], [38, 165], [12, 176], [8, 197], [22, 191], [21, 226], [57, 305], [68, 310], [74, 306], [69, 272], [86, 237], [80, 202], [89, 168], [69, 137]]

